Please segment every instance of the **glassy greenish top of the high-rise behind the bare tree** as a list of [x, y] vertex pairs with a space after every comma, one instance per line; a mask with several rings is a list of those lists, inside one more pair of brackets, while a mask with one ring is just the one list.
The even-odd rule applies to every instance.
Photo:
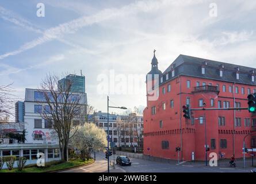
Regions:
[[58, 81], [59, 87], [67, 89], [70, 85], [71, 93], [85, 93], [85, 76], [83, 75], [67, 75], [66, 78]]

